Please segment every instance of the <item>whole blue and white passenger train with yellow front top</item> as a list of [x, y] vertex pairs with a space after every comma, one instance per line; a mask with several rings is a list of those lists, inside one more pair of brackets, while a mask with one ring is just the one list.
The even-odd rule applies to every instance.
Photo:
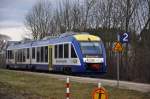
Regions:
[[106, 73], [106, 51], [98, 36], [63, 33], [57, 37], [9, 45], [6, 67], [64, 73]]

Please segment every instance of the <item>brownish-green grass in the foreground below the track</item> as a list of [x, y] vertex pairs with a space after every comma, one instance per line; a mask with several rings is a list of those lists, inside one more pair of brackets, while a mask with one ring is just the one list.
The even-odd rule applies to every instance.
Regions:
[[[71, 82], [71, 99], [91, 99], [95, 84]], [[104, 86], [109, 99], [150, 99], [150, 93]], [[0, 99], [65, 99], [65, 81], [0, 69]]]

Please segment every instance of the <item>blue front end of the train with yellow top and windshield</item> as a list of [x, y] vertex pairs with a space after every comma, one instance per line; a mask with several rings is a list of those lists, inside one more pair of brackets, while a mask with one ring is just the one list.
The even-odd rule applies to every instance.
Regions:
[[83, 66], [86, 72], [105, 73], [106, 53], [102, 40], [98, 36], [80, 34], [75, 36], [80, 45]]

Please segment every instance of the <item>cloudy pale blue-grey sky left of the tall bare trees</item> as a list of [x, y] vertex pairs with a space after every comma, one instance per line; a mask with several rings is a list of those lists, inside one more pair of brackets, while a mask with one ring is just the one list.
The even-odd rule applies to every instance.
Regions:
[[[24, 26], [25, 15], [39, 0], [0, 0], [0, 34], [11, 40], [21, 40], [29, 31]], [[50, 0], [56, 5], [59, 0]]]

